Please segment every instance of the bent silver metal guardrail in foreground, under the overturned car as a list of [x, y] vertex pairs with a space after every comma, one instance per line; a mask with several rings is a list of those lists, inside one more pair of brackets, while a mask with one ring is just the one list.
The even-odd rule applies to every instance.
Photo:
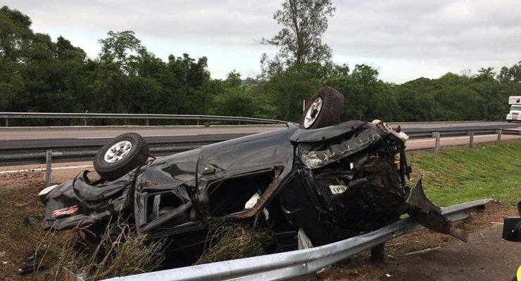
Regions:
[[[467, 218], [466, 211], [483, 208], [489, 200], [476, 200], [441, 208], [451, 221]], [[395, 237], [422, 230], [423, 226], [404, 218], [371, 233], [320, 247], [287, 251], [279, 254], [255, 256], [246, 259], [207, 263], [125, 277], [105, 281], [221, 281], [221, 280], [291, 280], [314, 275], [318, 270], [337, 263], [365, 249], [379, 247]]]

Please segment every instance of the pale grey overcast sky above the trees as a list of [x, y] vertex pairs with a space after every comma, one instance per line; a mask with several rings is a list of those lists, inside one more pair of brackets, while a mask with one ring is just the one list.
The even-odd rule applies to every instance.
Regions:
[[[513, 65], [521, 60], [519, 0], [339, 1], [324, 41], [336, 63], [368, 63], [384, 81], [402, 83], [446, 72]], [[32, 30], [63, 35], [95, 58], [109, 30], [133, 30], [152, 53], [208, 57], [213, 78], [260, 72], [258, 44], [278, 30], [272, 0], [4, 0], [30, 16]]]

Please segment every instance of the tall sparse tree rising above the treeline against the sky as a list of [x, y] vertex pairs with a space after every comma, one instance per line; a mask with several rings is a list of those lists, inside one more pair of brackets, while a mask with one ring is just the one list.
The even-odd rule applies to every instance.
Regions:
[[284, 0], [282, 9], [273, 14], [273, 19], [284, 27], [275, 37], [261, 40], [262, 44], [280, 48], [275, 65], [328, 61], [331, 48], [322, 43], [322, 34], [327, 30], [327, 17], [334, 11], [331, 0]]

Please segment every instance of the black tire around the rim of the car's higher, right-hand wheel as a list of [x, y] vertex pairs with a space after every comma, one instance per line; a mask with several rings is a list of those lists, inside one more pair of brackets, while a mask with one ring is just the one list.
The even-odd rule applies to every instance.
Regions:
[[[313, 103], [315, 103], [319, 98], [322, 99], [320, 112], [315, 113], [318, 115], [316, 115], [314, 121], [310, 125], [305, 126], [304, 121], [306, 115], [310, 110], [310, 107], [313, 106]], [[301, 129], [318, 129], [339, 124], [342, 114], [344, 114], [344, 96], [342, 96], [342, 94], [336, 89], [331, 87], [322, 87], [308, 100], [306, 109], [302, 112], [299, 127]]]

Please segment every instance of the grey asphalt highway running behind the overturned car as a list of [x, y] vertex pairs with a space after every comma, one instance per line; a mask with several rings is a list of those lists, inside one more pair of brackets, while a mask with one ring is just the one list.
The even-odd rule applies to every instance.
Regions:
[[[406, 133], [450, 129], [454, 131], [475, 129], [514, 129], [521, 124], [507, 122], [433, 122], [433, 123], [394, 123]], [[136, 132], [149, 143], [204, 143], [205, 141], [224, 141], [230, 138], [247, 136], [284, 125], [246, 125], [246, 126], [125, 126], [125, 127], [13, 127], [0, 128], [0, 149], [24, 148], [65, 148], [73, 146], [99, 147], [110, 138], [122, 133]], [[477, 141], [479, 138], [477, 138]], [[456, 140], [455, 140], [456, 141]]]

